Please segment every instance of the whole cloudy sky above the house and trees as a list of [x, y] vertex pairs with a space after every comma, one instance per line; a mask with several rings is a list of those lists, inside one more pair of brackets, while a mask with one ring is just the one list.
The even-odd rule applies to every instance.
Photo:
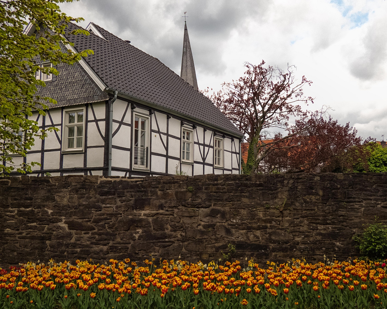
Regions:
[[[84, 17], [159, 58], [180, 74], [184, 18], [199, 89], [217, 90], [244, 62], [286, 68], [313, 81], [315, 97], [362, 137], [387, 137], [387, 1], [80, 0], [63, 12]], [[311, 108], [311, 106], [309, 106]]]

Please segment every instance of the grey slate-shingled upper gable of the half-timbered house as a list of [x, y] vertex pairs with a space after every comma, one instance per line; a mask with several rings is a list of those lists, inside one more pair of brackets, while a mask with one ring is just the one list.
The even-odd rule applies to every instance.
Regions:
[[109, 99], [109, 95], [101, 91], [80, 64], [60, 63], [57, 65], [57, 70], [59, 75], [54, 76], [53, 81], [46, 82], [46, 87], [38, 87], [36, 93], [58, 101], [58, 104], [48, 103], [48, 106], [74, 105]]

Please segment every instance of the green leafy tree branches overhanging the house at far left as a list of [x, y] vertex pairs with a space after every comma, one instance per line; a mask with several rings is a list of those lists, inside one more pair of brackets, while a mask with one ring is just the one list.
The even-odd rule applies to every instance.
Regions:
[[[0, 174], [16, 170], [31, 172], [39, 163], [15, 165], [13, 156], [26, 156], [35, 138], [43, 139], [46, 130], [29, 119], [32, 112], [45, 115], [48, 97], [36, 95], [45, 83], [36, 79], [36, 72], [55, 74], [54, 67], [41, 67], [42, 62], [53, 66], [60, 62], [74, 64], [91, 50], [75, 53], [65, 46], [72, 45], [63, 34], [69, 22], [79, 22], [62, 13], [59, 3], [73, 0], [0, 0]], [[67, 33], [89, 34], [85, 30]]]

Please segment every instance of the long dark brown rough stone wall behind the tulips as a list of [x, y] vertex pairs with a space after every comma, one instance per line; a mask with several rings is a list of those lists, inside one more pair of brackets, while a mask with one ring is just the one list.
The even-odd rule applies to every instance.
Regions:
[[[191, 192], [192, 191], [192, 192]], [[153, 257], [284, 261], [358, 254], [387, 221], [387, 174], [99, 176], [0, 179], [0, 266], [29, 260]]]

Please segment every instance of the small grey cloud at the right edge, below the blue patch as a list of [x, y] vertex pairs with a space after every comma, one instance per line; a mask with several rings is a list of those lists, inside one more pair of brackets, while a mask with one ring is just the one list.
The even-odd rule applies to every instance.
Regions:
[[350, 72], [361, 80], [380, 79], [387, 58], [387, 20], [379, 18], [368, 28], [363, 39], [365, 51], [350, 64]]

